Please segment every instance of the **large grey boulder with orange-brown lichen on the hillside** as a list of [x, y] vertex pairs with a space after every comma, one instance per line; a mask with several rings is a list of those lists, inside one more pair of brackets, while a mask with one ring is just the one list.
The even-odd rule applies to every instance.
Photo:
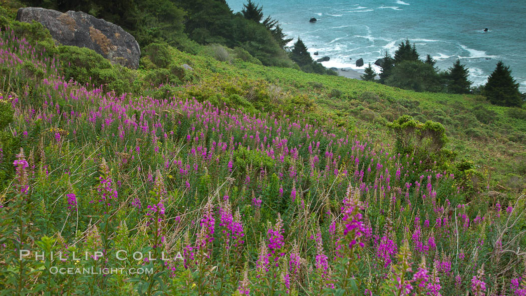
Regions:
[[139, 67], [140, 48], [123, 28], [83, 12], [61, 13], [52, 9], [18, 9], [16, 20], [36, 21], [49, 29], [53, 39], [63, 45], [87, 47], [103, 57], [128, 68]]

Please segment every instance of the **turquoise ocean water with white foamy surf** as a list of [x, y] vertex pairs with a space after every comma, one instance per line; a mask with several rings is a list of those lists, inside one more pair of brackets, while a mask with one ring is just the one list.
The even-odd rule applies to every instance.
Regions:
[[[227, 0], [234, 12], [246, 0]], [[502, 60], [526, 91], [525, 0], [256, 0], [265, 17], [284, 33], [304, 40], [311, 54], [329, 56], [326, 67], [363, 72], [403, 40], [415, 43], [420, 57], [430, 54], [441, 69], [459, 58], [474, 85], [484, 84]], [[316, 23], [309, 23], [316, 17]], [[489, 28], [489, 32], [484, 32]], [[292, 45], [291, 42], [290, 45]], [[313, 58], [317, 58], [313, 56]], [[357, 67], [363, 58], [364, 67]], [[380, 68], [376, 67], [377, 72]]]

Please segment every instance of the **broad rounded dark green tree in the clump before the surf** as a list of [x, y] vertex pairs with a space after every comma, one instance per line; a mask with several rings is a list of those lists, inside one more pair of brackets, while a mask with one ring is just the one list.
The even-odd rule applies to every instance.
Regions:
[[440, 91], [439, 75], [433, 66], [420, 60], [403, 61], [397, 64], [386, 80], [386, 84], [414, 91]]

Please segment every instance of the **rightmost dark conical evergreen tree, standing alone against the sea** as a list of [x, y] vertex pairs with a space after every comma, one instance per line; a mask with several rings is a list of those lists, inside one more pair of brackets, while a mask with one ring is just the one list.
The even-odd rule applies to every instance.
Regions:
[[484, 86], [484, 94], [491, 104], [520, 107], [524, 103], [519, 84], [511, 76], [509, 66], [504, 66], [500, 60], [497, 67], [488, 77], [488, 82]]

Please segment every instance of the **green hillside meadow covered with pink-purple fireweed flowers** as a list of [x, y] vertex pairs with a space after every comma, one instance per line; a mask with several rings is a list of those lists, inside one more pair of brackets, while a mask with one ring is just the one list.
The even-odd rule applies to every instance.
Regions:
[[8, 17], [3, 294], [526, 289], [524, 109], [218, 45], [153, 44], [129, 70]]

